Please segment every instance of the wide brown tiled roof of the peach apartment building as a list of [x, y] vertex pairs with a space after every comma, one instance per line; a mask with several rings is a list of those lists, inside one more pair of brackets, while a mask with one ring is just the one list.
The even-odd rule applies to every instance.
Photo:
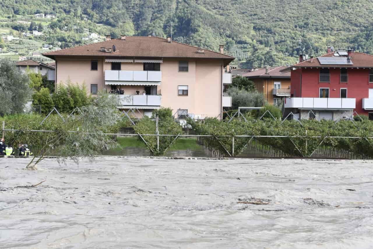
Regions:
[[[100, 47], [116, 47], [115, 52], [101, 52]], [[129, 36], [123, 39], [112, 39], [84, 46], [71, 47], [52, 52], [43, 53], [44, 56], [115, 56], [115, 57], [160, 57], [160, 58], [216, 58], [232, 61], [234, 57], [204, 49], [198, 53], [199, 47], [172, 41], [160, 37]]]

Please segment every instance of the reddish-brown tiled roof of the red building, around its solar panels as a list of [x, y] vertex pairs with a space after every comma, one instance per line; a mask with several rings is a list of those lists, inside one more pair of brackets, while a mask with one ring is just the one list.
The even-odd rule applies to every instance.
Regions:
[[[320, 57], [333, 57], [334, 53], [327, 53]], [[339, 56], [338, 56], [339, 57]], [[373, 55], [366, 53], [351, 52], [351, 61], [353, 65], [322, 65], [317, 58], [308, 59], [307, 61], [299, 62], [292, 67], [373, 67]]]

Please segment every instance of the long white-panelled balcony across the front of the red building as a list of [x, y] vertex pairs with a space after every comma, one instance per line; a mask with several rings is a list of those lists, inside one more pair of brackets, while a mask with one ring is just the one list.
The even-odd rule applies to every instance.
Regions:
[[303, 109], [355, 109], [356, 99], [351, 98], [286, 98], [285, 108]]

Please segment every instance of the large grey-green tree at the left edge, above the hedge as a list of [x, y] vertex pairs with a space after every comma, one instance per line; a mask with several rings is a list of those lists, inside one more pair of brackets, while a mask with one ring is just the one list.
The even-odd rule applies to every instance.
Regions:
[[23, 113], [30, 97], [30, 80], [13, 62], [0, 60], [0, 116]]

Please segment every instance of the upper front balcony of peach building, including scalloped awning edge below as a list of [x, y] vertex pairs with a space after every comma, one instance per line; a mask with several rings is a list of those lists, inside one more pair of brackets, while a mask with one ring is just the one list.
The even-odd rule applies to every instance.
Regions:
[[105, 84], [156, 85], [162, 81], [162, 71], [105, 70]]

